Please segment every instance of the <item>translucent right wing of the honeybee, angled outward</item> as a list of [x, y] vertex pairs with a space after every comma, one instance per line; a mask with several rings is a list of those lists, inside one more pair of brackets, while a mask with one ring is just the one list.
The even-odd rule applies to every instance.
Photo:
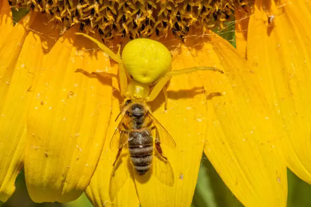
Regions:
[[164, 126], [162, 126], [162, 124], [157, 119], [155, 119], [155, 117], [150, 112], [148, 113], [148, 116], [152, 120], [154, 126], [157, 128], [156, 133], [159, 132], [156, 137], [158, 137], [159, 140], [161, 139], [161, 144], [168, 146], [172, 149], [176, 148], [176, 143], [171, 134], [164, 128]]

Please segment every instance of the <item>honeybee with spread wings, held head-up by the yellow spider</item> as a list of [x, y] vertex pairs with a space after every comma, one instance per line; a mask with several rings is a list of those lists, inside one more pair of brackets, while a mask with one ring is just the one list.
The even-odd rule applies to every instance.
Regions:
[[121, 114], [122, 119], [110, 141], [110, 148], [118, 149], [113, 166], [116, 166], [122, 148], [128, 144], [134, 170], [138, 175], [146, 174], [151, 168], [153, 159], [153, 131], [155, 149], [162, 161], [167, 163], [168, 159], [163, 154], [161, 141], [171, 148], [175, 148], [176, 143], [169, 132], [153, 117], [146, 103], [126, 99]]

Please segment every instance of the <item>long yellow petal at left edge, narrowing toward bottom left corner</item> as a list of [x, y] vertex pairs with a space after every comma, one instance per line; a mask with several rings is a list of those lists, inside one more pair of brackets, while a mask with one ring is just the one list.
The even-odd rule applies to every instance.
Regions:
[[[36, 19], [37, 18], [37, 19]], [[36, 21], [40, 19], [40, 21]], [[42, 25], [43, 15], [26, 16], [5, 39], [0, 49], [0, 67], [4, 72], [1, 79], [1, 149], [0, 200], [6, 201], [15, 190], [15, 179], [22, 167], [25, 144], [26, 114], [32, 97], [37, 67], [43, 61], [43, 48], [37, 32], [47, 33], [47, 26], [34, 32]], [[17, 47], [16, 47], [17, 46]], [[29, 52], [30, 51], [30, 52]], [[12, 55], [12, 56], [10, 56]], [[7, 59], [5, 59], [7, 58]]]

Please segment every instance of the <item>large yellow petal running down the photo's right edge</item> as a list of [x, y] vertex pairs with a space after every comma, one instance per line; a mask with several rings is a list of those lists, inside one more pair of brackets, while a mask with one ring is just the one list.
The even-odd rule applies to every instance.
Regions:
[[[267, 22], [274, 16], [273, 24]], [[250, 64], [279, 118], [288, 167], [311, 183], [311, 5], [307, 1], [258, 1], [250, 19]]]

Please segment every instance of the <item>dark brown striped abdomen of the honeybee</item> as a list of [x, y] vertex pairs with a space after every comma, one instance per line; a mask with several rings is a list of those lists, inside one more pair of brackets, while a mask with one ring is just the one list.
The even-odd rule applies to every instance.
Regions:
[[153, 142], [148, 129], [129, 133], [129, 151], [134, 169], [139, 175], [149, 171], [153, 157]]

